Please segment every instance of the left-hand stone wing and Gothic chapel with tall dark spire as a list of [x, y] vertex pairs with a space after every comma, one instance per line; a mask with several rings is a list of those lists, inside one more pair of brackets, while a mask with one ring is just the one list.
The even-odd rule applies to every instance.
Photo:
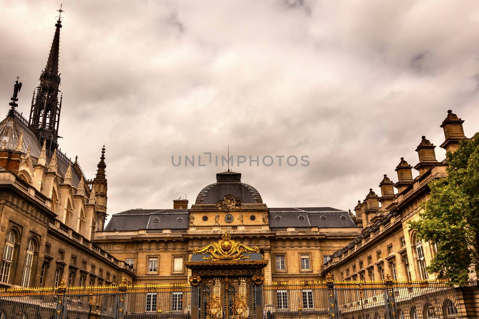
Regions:
[[30, 119], [16, 110], [17, 81], [0, 122], [0, 287], [103, 286], [134, 277], [125, 261], [91, 242], [106, 218], [104, 148], [93, 179], [57, 148], [60, 28], [58, 20]]

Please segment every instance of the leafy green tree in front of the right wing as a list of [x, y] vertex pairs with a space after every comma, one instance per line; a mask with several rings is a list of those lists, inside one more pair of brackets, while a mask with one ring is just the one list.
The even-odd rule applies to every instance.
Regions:
[[427, 271], [459, 284], [468, 281], [471, 264], [479, 274], [479, 132], [447, 152], [446, 161], [447, 177], [429, 183], [430, 199], [409, 225], [437, 246]]

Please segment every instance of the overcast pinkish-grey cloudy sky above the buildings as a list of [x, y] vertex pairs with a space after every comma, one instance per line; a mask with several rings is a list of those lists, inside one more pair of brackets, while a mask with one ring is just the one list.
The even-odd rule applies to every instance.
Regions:
[[[0, 0], [0, 108], [28, 113], [60, 1]], [[96, 172], [108, 213], [172, 208], [216, 181], [211, 152], [308, 155], [233, 170], [269, 207], [353, 209], [447, 110], [479, 131], [479, 2], [71, 1], [60, 37], [62, 151]], [[171, 164], [193, 156], [194, 167]], [[206, 156], [206, 155], [204, 155]], [[436, 148], [439, 160], [444, 150]], [[205, 158], [202, 158], [205, 160]], [[417, 175], [417, 173], [416, 173]]]

